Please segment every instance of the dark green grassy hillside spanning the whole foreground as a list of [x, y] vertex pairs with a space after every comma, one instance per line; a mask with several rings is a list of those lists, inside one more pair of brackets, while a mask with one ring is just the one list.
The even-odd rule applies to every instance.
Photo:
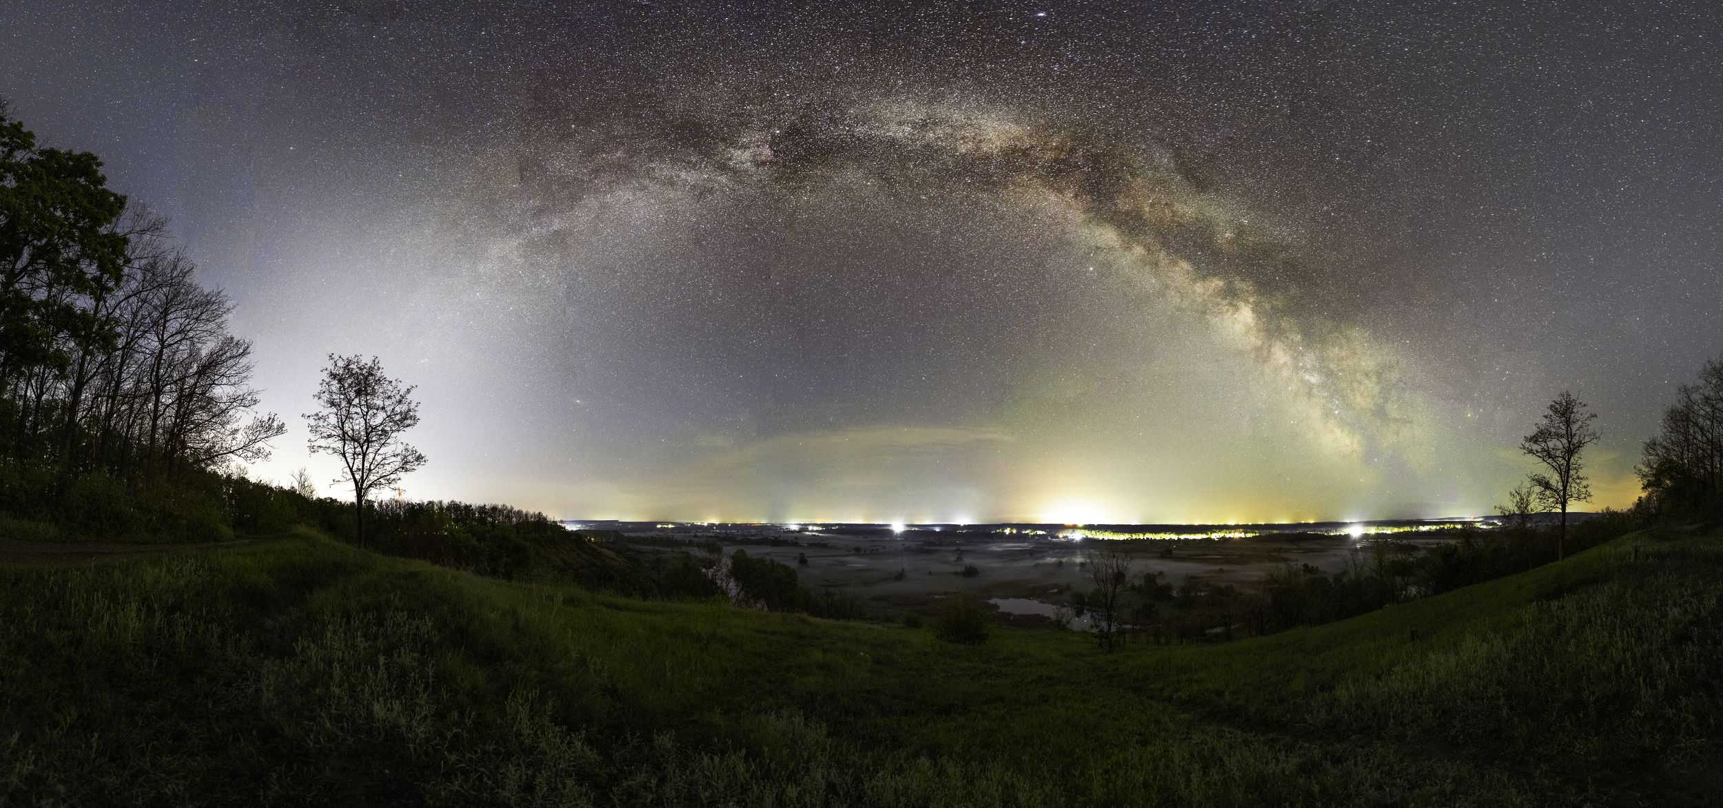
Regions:
[[1714, 805], [1720, 672], [1723, 541], [1675, 532], [1117, 655], [295, 532], [0, 570], [0, 803]]

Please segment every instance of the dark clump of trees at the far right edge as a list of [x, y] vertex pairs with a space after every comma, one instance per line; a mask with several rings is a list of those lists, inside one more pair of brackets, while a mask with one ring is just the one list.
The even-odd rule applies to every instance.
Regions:
[[1723, 512], [1723, 357], [1682, 384], [1633, 470], [1658, 513]]

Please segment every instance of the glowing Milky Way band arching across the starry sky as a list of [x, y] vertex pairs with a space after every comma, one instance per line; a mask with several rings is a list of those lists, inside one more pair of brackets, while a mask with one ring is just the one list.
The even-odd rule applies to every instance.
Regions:
[[541, 236], [608, 193], [820, 195], [837, 183], [1010, 196], [1058, 210], [1144, 295], [1177, 301], [1284, 389], [1292, 419], [1339, 458], [1418, 458], [1420, 407], [1399, 358], [1347, 322], [1346, 279], [1197, 190], [1166, 153], [1006, 114], [917, 102], [750, 115], [665, 109], [650, 121], [557, 121], [524, 158]]

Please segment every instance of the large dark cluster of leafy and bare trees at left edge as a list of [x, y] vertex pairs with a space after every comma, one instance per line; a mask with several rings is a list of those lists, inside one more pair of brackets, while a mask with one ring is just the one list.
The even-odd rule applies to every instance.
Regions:
[[252, 412], [233, 303], [100, 167], [0, 105], [0, 507], [208, 534], [208, 472], [267, 457], [283, 424]]

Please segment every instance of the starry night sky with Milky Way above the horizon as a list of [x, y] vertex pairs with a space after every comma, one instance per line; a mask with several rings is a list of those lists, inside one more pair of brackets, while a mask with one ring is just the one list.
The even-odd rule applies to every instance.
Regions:
[[[171, 219], [310, 467], [553, 517], [1594, 507], [1723, 351], [1709, 2], [0, 0], [0, 96]], [[331, 486], [326, 493], [339, 494]]]

